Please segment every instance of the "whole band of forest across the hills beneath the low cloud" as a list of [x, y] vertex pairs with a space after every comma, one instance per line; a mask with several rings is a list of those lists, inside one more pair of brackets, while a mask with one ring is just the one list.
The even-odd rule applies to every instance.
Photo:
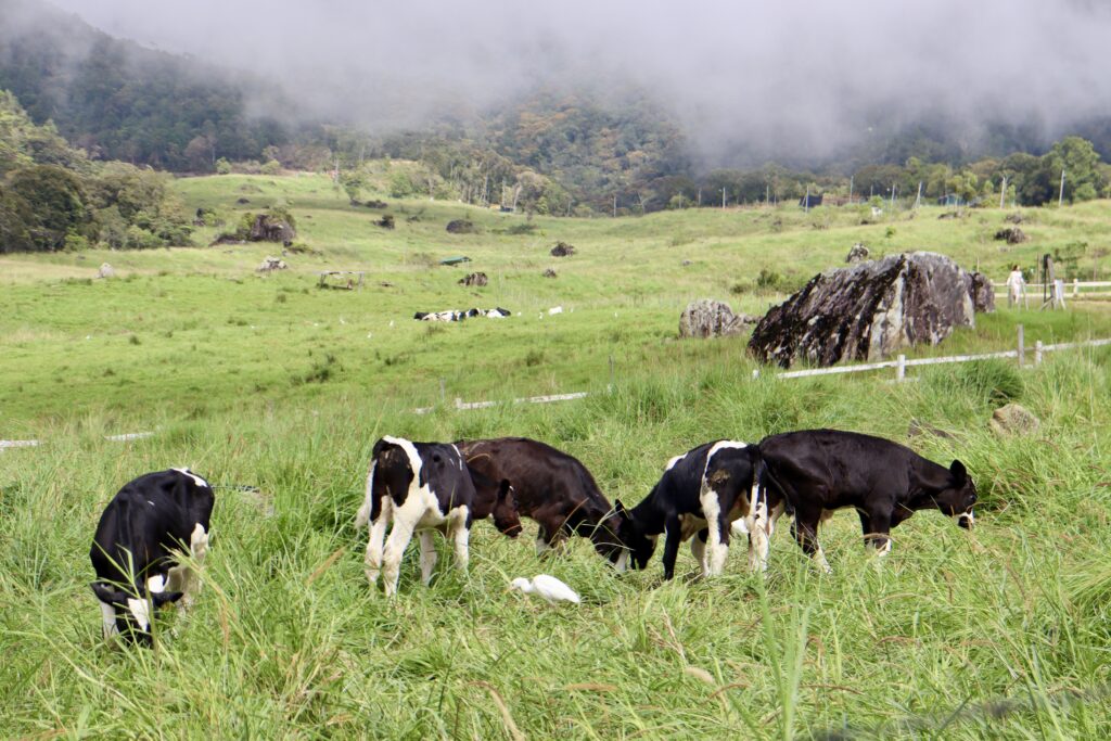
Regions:
[[[157, 240], [177, 233], [152, 217], [158, 209], [139, 209], [141, 224], [123, 209], [119, 216], [127, 223], [120, 222], [103, 188], [84, 188], [83, 179], [103, 180], [107, 170], [99, 163], [112, 160], [190, 173], [339, 168], [356, 199], [367, 182], [362, 164], [389, 157], [419, 163], [392, 172], [394, 197], [553, 214], [784, 201], [807, 192], [834, 202], [850, 196], [918, 198], [921, 190], [923, 199], [1040, 204], [1062, 196], [1070, 202], [1107, 196], [1111, 181], [1101, 158], [1111, 152], [1111, 118], [1083, 119], [1072, 129], [1080, 136], [1053, 142], [1044, 126], [993, 122], [991, 111], [984, 111], [974, 139], [942, 113], [907, 122], [865, 111], [861, 121], [869, 133], [861, 141], [822, 159], [762, 163], [754, 146], [701, 149], [650, 86], [568, 83], [533, 88], [466, 114], [444, 112], [403, 131], [376, 130], [342, 117], [313, 119], [298, 110], [279, 79], [116, 39], [37, 0], [0, 0], [0, 89], [12, 93], [2, 99], [9, 123], [0, 130], [9, 223], [12, 213], [26, 211], [26, 204], [13, 204], [13, 183], [44, 193], [43, 178], [53, 182], [53, 202], [77, 199], [92, 209], [81, 217], [87, 221], [36, 231], [52, 234], [39, 239], [49, 249], [63, 244], [64, 234], [71, 243], [100, 239], [106, 224], [114, 224], [108, 231], [119, 243], [151, 242], [134, 231], [130, 240], [120, 237], [131, 227]], [[279, 120], [273, 111], [289, 114]], [[740, 134], [734, 139], [743, 142]], [[84, 186], [62, 182], [60, 170], [38, 178], [17, 172], [31, 166], [58, 167]], [[153, 177], [142, 169], [132, 176]], [[20, 232], [20, 243], [31, 231]]]

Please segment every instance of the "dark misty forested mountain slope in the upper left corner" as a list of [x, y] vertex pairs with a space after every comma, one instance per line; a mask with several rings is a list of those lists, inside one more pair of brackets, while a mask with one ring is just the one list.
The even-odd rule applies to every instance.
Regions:
[[244, 87], [259, 80], [113, 39], [34, 0], [0, 0], [0, 89], [94, 158], [209, 172], [219, 157], [259, 158], [287, 139], [247, 116]]

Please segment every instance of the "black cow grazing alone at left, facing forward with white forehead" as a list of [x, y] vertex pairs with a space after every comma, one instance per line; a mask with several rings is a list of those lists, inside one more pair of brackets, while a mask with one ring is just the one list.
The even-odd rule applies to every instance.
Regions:
[[104, 638], [113, 633], [151, 645], [151, 603], [190, 605], [198, 574], [179, 563], [186, 551], [200, 564], [208, 552], [216, 497], [189, 469], [147, 473], [124, 484], [100, 515], [89, 558], [97, 572]]

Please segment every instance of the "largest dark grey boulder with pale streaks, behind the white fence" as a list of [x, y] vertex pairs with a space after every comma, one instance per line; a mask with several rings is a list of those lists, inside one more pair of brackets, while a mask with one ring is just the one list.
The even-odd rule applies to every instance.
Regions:
[[954, 327], [974, 326], [969, 273], [947, 257], [911, 252], [815, 276], [760, 320], [749, 349], [783, 368], [832, 366], [937, 344]]

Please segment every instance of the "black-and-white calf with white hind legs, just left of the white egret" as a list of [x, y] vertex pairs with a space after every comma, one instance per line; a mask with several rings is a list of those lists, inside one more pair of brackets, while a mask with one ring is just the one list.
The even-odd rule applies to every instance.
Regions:
[[[401, 557], [414, 531], [420, 533], [421, 577], [426, 584], [432, 580], [437, 558], [432, 530], [454, 543], [456, 565], [466, 571], [471, 522], [491, 514], [503, 533], [516, 537], [520, 532], [521, 521], [508, 481], [496, 482], [471, 471], [459, 449], [450, 443], [383, 437], [374, 443], [367, 498], [356, 517], [357, 528], [370, 525], [367, 580], [373, 587], [384, 571], [386, 593], [397, 593]], [[391, 522], [393, 528], [386, 540]]]

